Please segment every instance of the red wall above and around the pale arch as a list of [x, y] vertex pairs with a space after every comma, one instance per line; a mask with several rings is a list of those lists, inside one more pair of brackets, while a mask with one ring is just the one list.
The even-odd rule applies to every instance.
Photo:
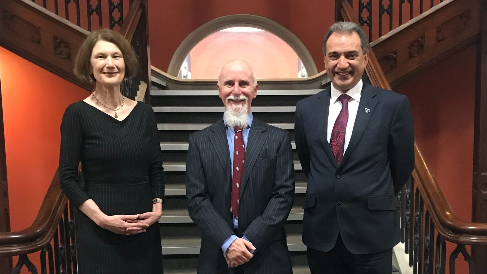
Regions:
[[149, 0], [148, 5], [150, 61], [163, 71], [168, 70], [179, 44], [199, 26], [225, 15], [252, 14], [293, 32], [311, 53], [319, 72], [324, 70], [321, 42], [335, 21], [335, 2], [330, 0]]

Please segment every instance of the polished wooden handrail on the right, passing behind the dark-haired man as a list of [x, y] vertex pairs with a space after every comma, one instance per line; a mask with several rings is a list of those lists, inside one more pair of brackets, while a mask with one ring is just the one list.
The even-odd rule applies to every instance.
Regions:
[[[352, 6], [347, 0], [341, 1], [340, 12], [345, 21], [358, 23], [358, 20], [353, 16]], [[371, 47], [369, 47], [369, 63], [365, 70], [374, 86], [391, 89]], [[446, 240], [454, 243], [487, 244], [487, 223], [466, 222], [458, 218], [451, 210], [450, 204], [416, 143], [414, 143], [414, 156], [412, 177], [438, 233]]]

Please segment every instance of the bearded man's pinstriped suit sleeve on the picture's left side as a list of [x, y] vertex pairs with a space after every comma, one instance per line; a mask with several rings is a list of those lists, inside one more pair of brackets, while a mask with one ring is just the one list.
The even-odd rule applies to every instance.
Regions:
[[200, 152], [192, 135], [189, 136], [186, 159], [186, 196], [189, 216], [196, 226], [216, 246], [222, 246], [225, 239], [234, 233], [211, 203]]

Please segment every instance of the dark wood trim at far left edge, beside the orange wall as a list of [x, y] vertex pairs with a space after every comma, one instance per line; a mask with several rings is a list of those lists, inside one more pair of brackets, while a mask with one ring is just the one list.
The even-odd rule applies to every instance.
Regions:
[[[7, 158], [5, 154], [5, 134], [3, 129], [3, 107], [0, 80], [0, 232], [10, 231], [10, 209], [8, 203]], [[12, 259], [0, 257], [0, 274], [12, 272]]]

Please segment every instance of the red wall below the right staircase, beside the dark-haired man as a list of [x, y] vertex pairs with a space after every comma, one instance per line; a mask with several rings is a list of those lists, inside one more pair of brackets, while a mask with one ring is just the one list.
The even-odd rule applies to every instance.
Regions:
[[[471, 221], [475, 45], [435, 64], [394, 91], [410, 99], [416, 142], [453, 213]], [[454, 248], [448, 245], [447, 255]], [[457, 273], [468, 273], [462, 256], [457, 259], [457, 267], [461, 268]]]

